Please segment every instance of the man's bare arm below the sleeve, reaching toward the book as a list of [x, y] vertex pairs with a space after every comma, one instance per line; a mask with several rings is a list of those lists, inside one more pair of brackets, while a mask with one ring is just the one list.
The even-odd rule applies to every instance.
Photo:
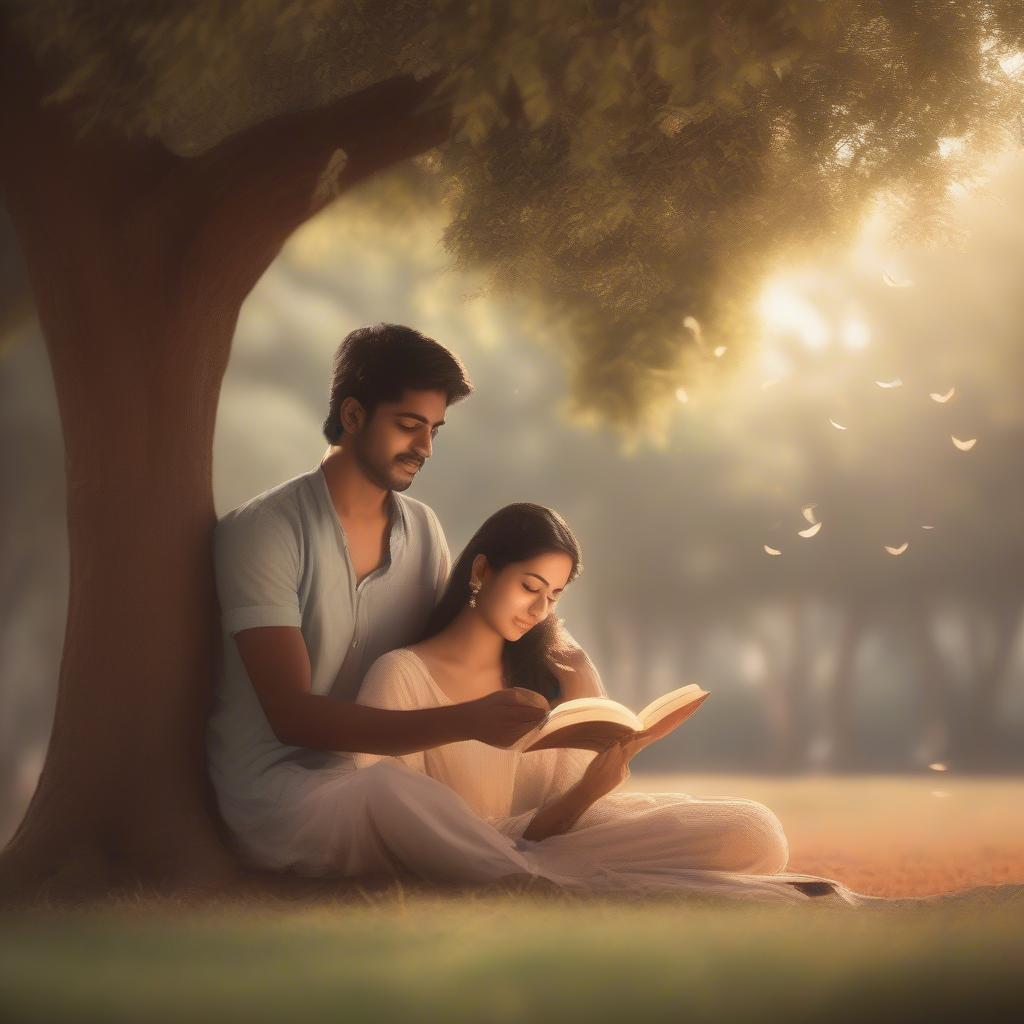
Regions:
[[415, 711], [368, 708], [311, 692], [309, 652], [295, 627], [242, 630], [234, 642], [270, 728], [290, 746], [384, 755], [461, 739], [510, 746], [548, 711], [543, 697], [521, 689]]

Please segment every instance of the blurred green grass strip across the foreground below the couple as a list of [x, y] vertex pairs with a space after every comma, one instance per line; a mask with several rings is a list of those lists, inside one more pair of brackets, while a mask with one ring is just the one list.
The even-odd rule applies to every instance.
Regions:
[[[987, 898], [986, 898], [987, 897]], [[993, 898], [997, 897], [997, 898]], [[855, 910], [410, 892], [9, 913], [5, 1021], [836, 1021], [1024, 1012], [1024, 890]]]

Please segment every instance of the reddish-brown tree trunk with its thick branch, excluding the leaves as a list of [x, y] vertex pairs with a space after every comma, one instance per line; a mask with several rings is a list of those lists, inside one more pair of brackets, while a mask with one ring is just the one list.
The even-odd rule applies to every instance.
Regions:
[[[39, 73], [2, 29], [0, 186], [56, 385], [71, 579], [53, 730], [0, 854], [0, 899], [221, 890], [244, 872], [206, 772], [220, 636], [212, 452], [239, 309], [295, 227], [341, 188], [437, 144], [446, 117], [418, 120], [403, 83], [370, 90], [370, 135], [354, 100], [276, 122], [284, 137], [298, 124], [311, 138], [293, 147], [291, 173], [266, 126], [184, 161], [150, 142], [77, 137], [69, 111], [34, 98]], [[382, 140], [397, 94], [397, 134]], [[334, 191], [316, 195], [339, 111], [338, 144], [354, 138], [354, 156]], [[273, 174], [230, 188], [259, 146]]]

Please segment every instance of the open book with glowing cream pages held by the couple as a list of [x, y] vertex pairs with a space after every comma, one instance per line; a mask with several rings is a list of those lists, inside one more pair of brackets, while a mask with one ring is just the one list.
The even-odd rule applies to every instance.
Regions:
[[625, 705], [608, 697], [579, 697], [558, 705], [540, 725], [516, 744], [518, 751], [544, 751], [551, 746], [575, 746], [603, 751], [617, 739], [650, 731], [660, 739], [682, 725], [710, 695], [696, 683], [681, 686], [652, 700], [635, 715]]

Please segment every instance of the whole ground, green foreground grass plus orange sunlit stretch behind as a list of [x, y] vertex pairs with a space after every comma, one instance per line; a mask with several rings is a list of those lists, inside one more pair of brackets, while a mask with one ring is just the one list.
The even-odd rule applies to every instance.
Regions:
[[[630, 786], [761, 800], [786, 826], [792, 869], [833, 871], [863, 892], [1024, 883], [1024, 781], [685, 776]], [[122, 898], [8, 914], [0, 1017], [996, 1020], [1016, 1005], [1022, 1019], [1022, 926], [1024, 885], [861, 910], [400, 884], [203, 907]]]

